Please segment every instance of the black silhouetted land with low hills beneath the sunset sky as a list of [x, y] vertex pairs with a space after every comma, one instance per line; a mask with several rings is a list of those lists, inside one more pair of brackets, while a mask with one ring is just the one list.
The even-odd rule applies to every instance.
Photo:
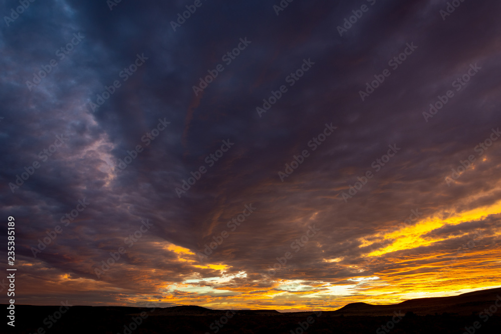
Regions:
[[[7, 305], [2, 305], [7, 307]], [[63, 312], [63, 313], [60, 313]], [[336, 311], [212, 310], [199, 306], [16, 305], [9, 333], [499, 333], [501, 288], [393, 305], [352, 303]], [[475, 328], [476, 327], [476, 328]], [[4, 327], [5, 328], [5, 327]]]

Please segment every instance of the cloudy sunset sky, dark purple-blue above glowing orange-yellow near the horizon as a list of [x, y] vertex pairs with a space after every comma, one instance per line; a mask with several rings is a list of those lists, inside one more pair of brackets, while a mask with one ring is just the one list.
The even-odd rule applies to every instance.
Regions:
[[501, 3], [452, 3], [2, 2], [16, 303], [501, 286]]

